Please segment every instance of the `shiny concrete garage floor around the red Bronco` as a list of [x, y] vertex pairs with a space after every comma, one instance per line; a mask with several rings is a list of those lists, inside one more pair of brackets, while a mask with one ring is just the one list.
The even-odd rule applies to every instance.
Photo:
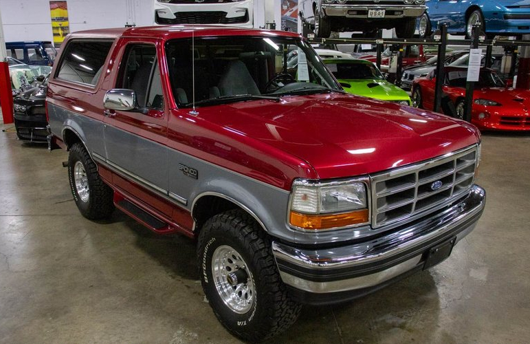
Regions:
[[[1, 127], [1, 125], [0, 125]], [[204, 301], [195, 246], [80, 215], [65, 151], [0, 134], [0, 343], [241, 343]], [[269, 343], [530, 343], [530, 134], [485, 134], [486, 211], [452, 256]]]

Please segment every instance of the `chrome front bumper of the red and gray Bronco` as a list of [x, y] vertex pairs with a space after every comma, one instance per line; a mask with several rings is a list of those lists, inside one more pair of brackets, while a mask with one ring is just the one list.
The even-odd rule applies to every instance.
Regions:
[[[475, 227], [484, 206], [485, 191], [474, 185], [465, 198], [445, 211], [382, 237], [318, 250], [294, 248], [274, 241], [272, 251], [283, 282], [291, 290], [304, 294], [298, 299], [326, 303], [322, 301], [326, 299], [325, 294], [339, 295], [329, 298], [333, 301], [353, 299], [356, 291], [366, 294], [406, 272], [423, 268], [426, 252], [451, 238], [458, 242], [465, 237]], [[321, 301], [310, 301], [311, 294]]]

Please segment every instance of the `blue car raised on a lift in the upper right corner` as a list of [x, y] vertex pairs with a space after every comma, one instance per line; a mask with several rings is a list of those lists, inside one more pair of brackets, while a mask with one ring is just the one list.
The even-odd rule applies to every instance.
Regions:
[[480, 24], [487, 36], [530, 34], [530, 0], [427, 0], [427, 10], [418, 19], [421, 37], [439, 25], [448, 24], [450, 34], [471, 36]]

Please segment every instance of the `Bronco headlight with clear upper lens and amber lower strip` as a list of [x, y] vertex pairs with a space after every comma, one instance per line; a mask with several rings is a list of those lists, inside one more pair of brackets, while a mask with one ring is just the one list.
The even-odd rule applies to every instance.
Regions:
[[302, 230], [329, 230], [368, 223], [366, 184], [358, 181], [296, 180], [289, 224]]

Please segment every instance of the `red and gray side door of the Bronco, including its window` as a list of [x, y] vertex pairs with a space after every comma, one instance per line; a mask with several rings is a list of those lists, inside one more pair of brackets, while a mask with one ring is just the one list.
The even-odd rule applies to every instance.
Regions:
[[[130, 42], [122, 47], [120, 72], [114, 88], [133, 89], [137, 110], [104, 109], [107, 163], [117, 171], [113, 183], [141, 200], [144, 191], [168, 189], [167, 122], [164, 92], [155, 42]], [[122, 177], [126, 177], [122, 178]], [[135, 184], [129, 182], [133, 180]], [[168, 210], [170, 215], [170, 211]]]

